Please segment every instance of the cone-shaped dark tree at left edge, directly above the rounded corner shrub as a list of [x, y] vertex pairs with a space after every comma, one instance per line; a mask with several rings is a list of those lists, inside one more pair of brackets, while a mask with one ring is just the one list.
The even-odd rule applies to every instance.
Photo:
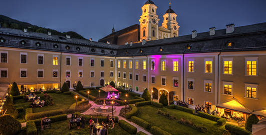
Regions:
[[13, 101], [11, 99], [10, 96], [7, 97], [5, 104], [3, 106], [4, 111], [7, 110], [6, 114], [10, 114], [13, 117], [17, 117], [19, 115], [18, 110], [16, 109], [16, 107], [13, 104]]

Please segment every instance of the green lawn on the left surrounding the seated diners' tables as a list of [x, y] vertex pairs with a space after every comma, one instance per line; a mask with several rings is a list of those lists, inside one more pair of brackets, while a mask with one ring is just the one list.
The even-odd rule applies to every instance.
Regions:
[[[47, 111], [52, 109], [63, 109], [66, 110], [69, 108], [71, 104], [76, 102], [75, 97], [73, 97], [70, 94], [63, 94], [63, 93], [49, 93], [53, 97], [54, 105], [44, 106], [44, 107], [36, 107], [33, 108], [33, 112], [41, 112], [41, 111]], [[41, 97], [41, 100], [44, 99], [44, 94], [38, 94], [38, 96]], [[18, 99], [14, 101], [14, 104], [16, 107], [24, 107], [29, 108], [30, 102], [25, 102], [24, 99]]]

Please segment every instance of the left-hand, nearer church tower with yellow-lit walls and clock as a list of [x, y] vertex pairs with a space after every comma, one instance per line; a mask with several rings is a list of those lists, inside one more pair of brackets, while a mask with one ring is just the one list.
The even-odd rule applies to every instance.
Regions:
[[158, 39], [158, 23], [159, 18], [156, 14], [157, 6], [153, 1], [148, 0], [141, 7], [142, 15], [140, 16], [140, 40], [156, 40]]

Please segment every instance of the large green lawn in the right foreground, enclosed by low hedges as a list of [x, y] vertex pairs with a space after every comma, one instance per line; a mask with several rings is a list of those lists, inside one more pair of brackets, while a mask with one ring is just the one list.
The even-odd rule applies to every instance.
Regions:
[[196, 129], [180, 124], [177, 120], [170, 120], [165, 116], [157, 114], [158, 108], [152, 105], [138, 107], [138, 117], [146, 120], [152, 125], [156, 125], [171, 134], [222, 134], [224, 126], [217, 125], [216, 121], [212, 121], [203, 117], [196, 116], [177, 109], [160, 108], [162, 111], [168, 112], [170, 115], [176, 116], [177, 119], [187, 118], [195, 124], [203, 124], [207, 128], [207, 132], [202, 133]]

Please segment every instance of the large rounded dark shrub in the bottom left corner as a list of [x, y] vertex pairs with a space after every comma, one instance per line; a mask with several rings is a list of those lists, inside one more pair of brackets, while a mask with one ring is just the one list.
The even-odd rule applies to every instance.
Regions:
[[21, 123], [13, 116], [6, 114], [0, 116], [0, 134], [17, 134], [21, 130]]

